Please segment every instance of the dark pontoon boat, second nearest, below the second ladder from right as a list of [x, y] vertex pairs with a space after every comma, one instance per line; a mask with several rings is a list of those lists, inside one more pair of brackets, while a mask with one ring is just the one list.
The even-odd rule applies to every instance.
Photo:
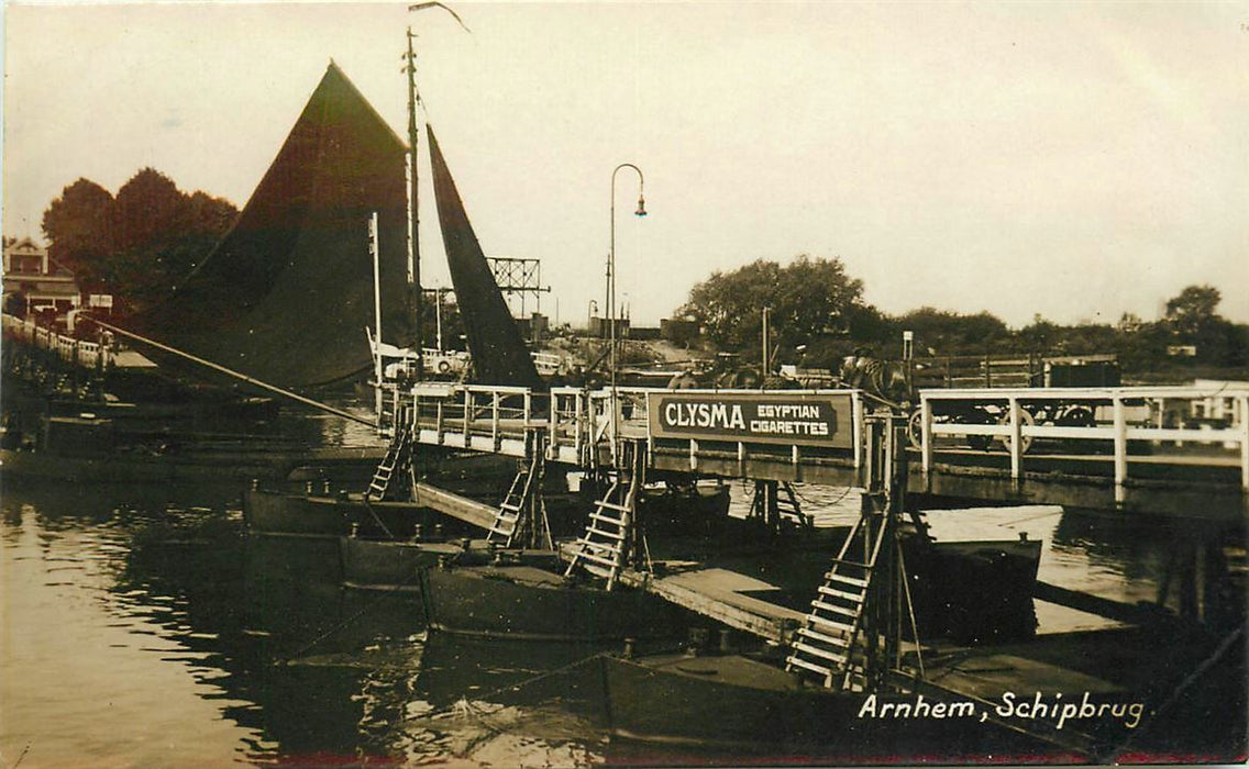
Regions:
[[686, 614], [643, 590], [566, 580], [531, 566], [433, 568], [427, 573], [430, 627], [448, 633], [527, 640], [667, 638]]

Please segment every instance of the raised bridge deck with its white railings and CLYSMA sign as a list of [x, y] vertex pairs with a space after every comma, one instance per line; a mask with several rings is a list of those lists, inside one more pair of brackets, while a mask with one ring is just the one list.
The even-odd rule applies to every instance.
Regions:
[[[621, 441], [644, 467], [687, 476], [863, 486], [864, 421], [854, 389], [668, 389], [421, 383], [421, 444], [611, 469]], [[1219, 399], [1220, 423], [1190, 418]], [[398, 408], [395, 408], [398, 413]], [[1079, 418], [1045, 421], [1044, 414]], [[950, 414], [977, 414], [954, 418]], [[1037, 414], [1035, 418], [1034, 414]], [[924, 389], [912, 418], [908, 493], [983, 503], [1062, 504], [1243, 518], [1249, 507], [1249, 386]]]

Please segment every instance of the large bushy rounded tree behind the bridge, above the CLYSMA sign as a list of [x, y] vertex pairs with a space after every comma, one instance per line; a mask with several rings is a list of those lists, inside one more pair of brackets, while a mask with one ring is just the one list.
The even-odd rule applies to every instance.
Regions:
[[719, 347], [757, 358], [762, 311], [769, 310], [776, 350], [791, 350], [827, 333], [844, 333], [863, 303], [863, 282], [839, 258], [798, 256], [782, 267], [758, 260], [714, 272], [689, 291], [678, 316], [697, 321]]

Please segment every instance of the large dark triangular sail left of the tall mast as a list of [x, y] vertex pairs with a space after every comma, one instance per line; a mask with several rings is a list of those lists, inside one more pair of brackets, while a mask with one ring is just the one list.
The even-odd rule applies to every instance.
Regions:
[[406, 149], [331, 62], [234, 228], [136, 330], [284, 387], [361, 372], [376, 211], [382, 333], [411, 345]]

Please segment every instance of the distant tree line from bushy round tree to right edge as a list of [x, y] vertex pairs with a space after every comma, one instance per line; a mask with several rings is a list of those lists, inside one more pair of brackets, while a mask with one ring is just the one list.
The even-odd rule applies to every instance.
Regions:
[[[768, 307], [777, 360], [812, 368], [836, 366], [856, 347], [896, 358], [903, 331], [914, 332], [917, 356], [1113, 353], [1127, 370], [1165, 376], [1184, 376], [1193, 366], [1249, 367], [1249, 326], [1218, 315], [1222, 295], [1212, 286], [1185, 287], [1155, 321], [1124, 313], [1115, 325], [1064, 326], [1037, 315], [1019, 330], [988, 312], [921, 307], [888, 316], [862, 297], [863, 283], [847, 275], [839, 260], [799, 256], [786, 267], [759, 260], [714, 272], [677, 312], [698, 321], [721, 350], [758, 360], [761, 311]], [[1195, 346], [1197, 357], [1169, 357], [1174, 345]]]

